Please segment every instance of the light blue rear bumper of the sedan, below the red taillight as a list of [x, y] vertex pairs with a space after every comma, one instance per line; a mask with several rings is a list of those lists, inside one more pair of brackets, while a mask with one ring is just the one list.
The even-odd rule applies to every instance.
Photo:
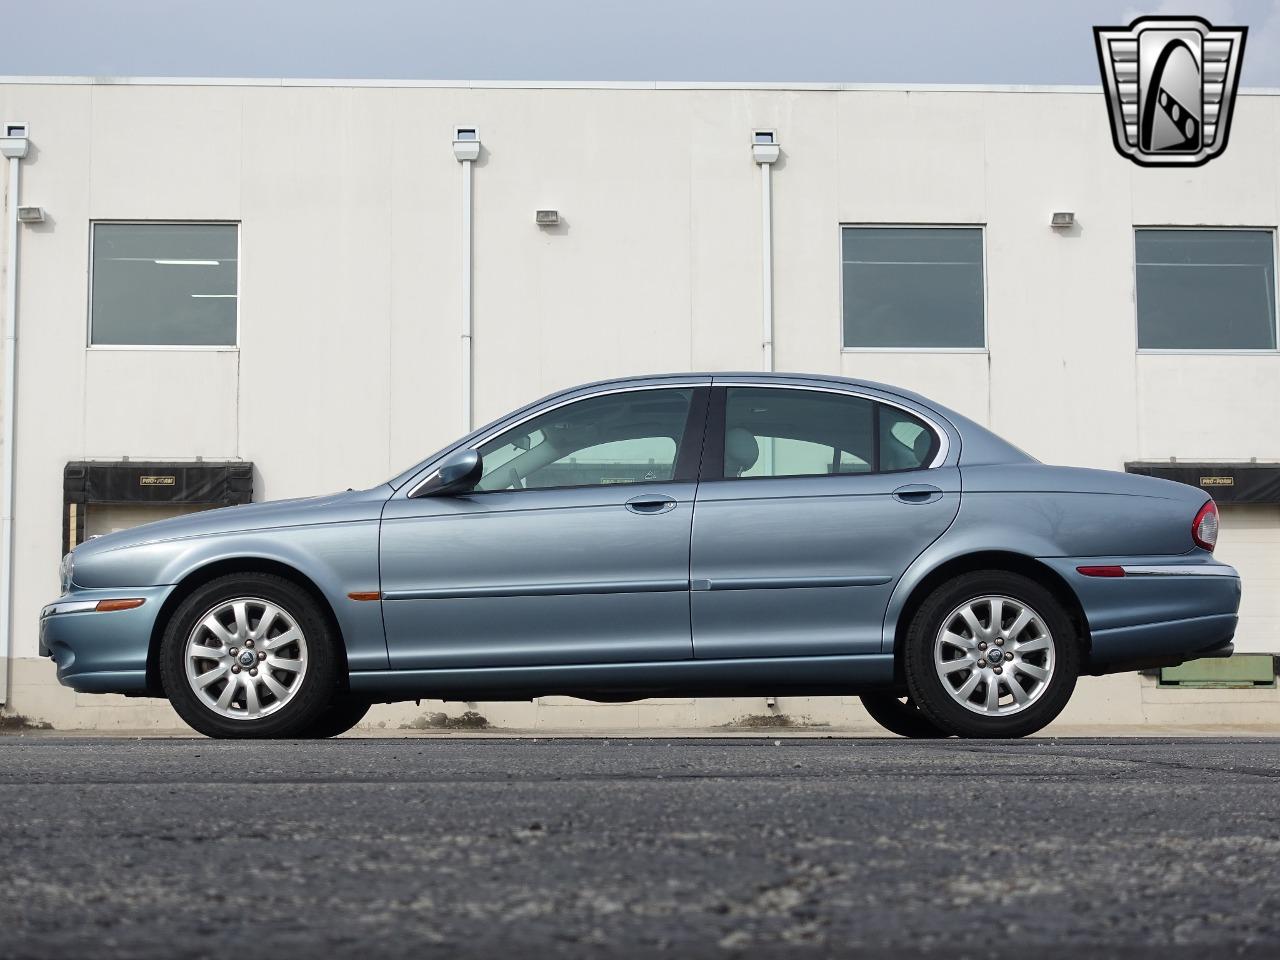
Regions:
[[[1206, 554], [1044, 558], [1075, 591], [1092, 645], [1087, 669], [1116, 673], [1225, 655], [1235, 636], [1240, 576]], [[1078, 567], [1120, 567], [1084, 576]]]

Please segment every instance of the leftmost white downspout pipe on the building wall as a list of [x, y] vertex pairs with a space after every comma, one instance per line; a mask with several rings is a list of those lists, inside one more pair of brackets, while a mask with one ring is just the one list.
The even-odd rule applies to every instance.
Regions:
[[14, 401], [18, 397], [18, 186], [27, 156], [27, 124], [6, 123], [0, 137], [0, 155], [9, 160], [8, 210], [5, 211], [5, 307], [4, 307], [4, 425], [0, 443], [0, 704], [9, 703], [9, 654], [13, 649], [13, 481]]

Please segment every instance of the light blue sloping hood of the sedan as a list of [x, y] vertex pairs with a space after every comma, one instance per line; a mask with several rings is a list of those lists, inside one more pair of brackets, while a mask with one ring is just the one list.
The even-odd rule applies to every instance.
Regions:
[[390, 494], [392, 488], [381, 484], [369, 490], [346, 490], [326, 497], [302, 497], [291, 500], [220, 507], [96, 536], [77, 547], [76, 556], [79, 559], [125, 547], [161, 540], [180, 540], [191, 536], [375, 520], [381, 516], [383, 503]]

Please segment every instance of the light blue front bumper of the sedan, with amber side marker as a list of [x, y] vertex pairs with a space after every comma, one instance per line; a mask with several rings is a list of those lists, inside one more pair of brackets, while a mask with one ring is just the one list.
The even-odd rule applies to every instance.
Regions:
[[[58, 666], [58, 682], [92, 694], [141, 694], [156, 616], [173, 586], [102, 590], [73, 588], [40, 612], [40, 654]], [[101, 600], [142, 599], [140, 607], [99, 612]]]

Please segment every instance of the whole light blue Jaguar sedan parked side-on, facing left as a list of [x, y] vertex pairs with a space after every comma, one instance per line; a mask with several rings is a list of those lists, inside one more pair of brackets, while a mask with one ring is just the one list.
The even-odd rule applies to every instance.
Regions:
[[1082, 673], [1231, 652], [1217, 509], [1046, 466], [908, 390], [681, 374], [577, 387], [385, 484], [110, 534], [41, 649], [214, 737], [374, 703], [859, 695], [904, 736], [1018, 737]]

